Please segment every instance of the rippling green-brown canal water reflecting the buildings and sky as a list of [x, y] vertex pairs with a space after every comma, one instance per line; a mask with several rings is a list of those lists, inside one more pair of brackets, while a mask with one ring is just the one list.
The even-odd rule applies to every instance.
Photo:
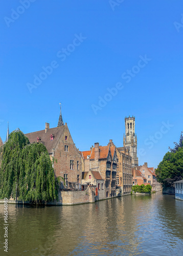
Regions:
[[95, 204], [0, 205], [0, 255], [182, 255], [183, 201], [174, 195], [125, 196]]

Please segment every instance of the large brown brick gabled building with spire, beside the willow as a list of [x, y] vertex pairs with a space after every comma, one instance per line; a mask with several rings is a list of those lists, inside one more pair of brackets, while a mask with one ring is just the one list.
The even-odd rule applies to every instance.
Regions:
[[45, 129], [26, 134], [30, 143], [41, 142], [45, 145], [53, 162], [55, 176], [62, 177], [62, 188], [77, 189], [81, 185], [81, 155], [77, 150], [67, 123], [63, 123], [61, 108], [58, 126], [50, 128], [45, 123]]

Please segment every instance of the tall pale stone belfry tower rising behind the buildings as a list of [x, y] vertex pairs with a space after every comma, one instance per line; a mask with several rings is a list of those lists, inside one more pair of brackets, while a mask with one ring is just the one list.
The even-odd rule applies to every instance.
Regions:
[[137, 137], [135, 134], [135, 117], [125, 117], [125, 134], [123, 136], [123, 146], [129, 150], [132, 159], [132, 167], [139, 165], [137, 157]]

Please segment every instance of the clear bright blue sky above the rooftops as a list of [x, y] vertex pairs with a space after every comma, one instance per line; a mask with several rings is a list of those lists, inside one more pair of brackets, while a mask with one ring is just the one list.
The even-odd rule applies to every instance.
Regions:
[[57, 126], [61, 102], [81, 151], [122, 146], [133, 115], [139, 164], [156, 167], [183, 130], [183, 2], [0, 4], [2, 139], [8, 121], [25, 134]]

